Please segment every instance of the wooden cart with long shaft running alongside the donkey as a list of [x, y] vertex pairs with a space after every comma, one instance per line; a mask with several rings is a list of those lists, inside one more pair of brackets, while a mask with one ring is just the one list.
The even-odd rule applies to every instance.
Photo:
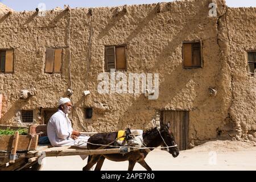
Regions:
[[[87, 150], [86, 148], [71, 146], [52, 147], [50, 145], [38, 145], [39, 135], [35, 134], [35, 132], [42, 131], [45, 127], [34, 125], [30, 127], [30, 135], [21, 136], [16, 132], [14, 136], [11, 136], [7, 150], [0, 151], [0, 171], [39, 170], [42, 167], [42, 159], [48, 156], [127, 154], [133, 151], [133, 148], [128, 147]], [[94, 133], [87, 134], [92, 135]], [[1, 147], [3, 148], [3, 145]]]

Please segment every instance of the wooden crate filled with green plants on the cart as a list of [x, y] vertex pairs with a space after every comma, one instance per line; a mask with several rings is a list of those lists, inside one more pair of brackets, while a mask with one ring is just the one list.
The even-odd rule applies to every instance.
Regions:
[[36, 150], [38, 135], [29, 135], [27, 128], [11, 129], [11, 127], [7, 127], [6, 129], [0, 128], [0, 151], [12, 150], [15, 131], [19, 133], [17, 151]]

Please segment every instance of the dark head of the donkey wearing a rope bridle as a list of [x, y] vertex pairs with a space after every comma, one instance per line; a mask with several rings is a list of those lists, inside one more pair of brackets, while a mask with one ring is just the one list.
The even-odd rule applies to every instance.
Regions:
[[176, 158], [179, 155], [179, 149], [176, 146], [176, 142], [174, 139], [174, 134], [170, 130], [170, 123], [167, 124], [161, 124], [160, 126], [160, 133], [163, 137], [162, 145], [164, 147], [169, 147], [168, 152], [172, 154], [174, 158]]

